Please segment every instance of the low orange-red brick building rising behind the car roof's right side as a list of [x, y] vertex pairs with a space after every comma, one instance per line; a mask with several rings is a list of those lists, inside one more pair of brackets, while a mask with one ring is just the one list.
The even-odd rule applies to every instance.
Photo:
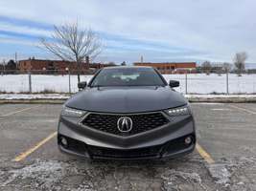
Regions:
[[151, 66], [156, 68], [161, 74], [184, 74], [184, 73], [195, 73], [197, 68], [196, 62], [163, 62], [163, 63], [152, 63], [152, 62], [135, 62], [135, 66]]

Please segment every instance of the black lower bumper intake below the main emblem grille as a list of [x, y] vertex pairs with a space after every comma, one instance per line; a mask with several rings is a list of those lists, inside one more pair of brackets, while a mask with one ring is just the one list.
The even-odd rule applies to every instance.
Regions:
[[97, 146], [88, 147], [92, 157], [104, 157], [115, 159], [146, 158], [160, 156], [161, 146], [152, 146], [142, 149], [109, 149]]

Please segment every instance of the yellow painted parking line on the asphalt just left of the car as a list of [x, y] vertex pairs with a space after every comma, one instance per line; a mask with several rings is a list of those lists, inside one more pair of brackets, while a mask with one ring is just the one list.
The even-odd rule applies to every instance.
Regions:
[[50, 139], [54, 138], [57, 136], [57, 132], [52, 133], [50, 136], [48, 136], [47, 138], [42, 139], [41, 141], [37, 142], [35, 144], [35, 146], [33, 146], [32, 148], [30, 148], [29, 150], [25, 151], [24, 153], [21, 153], [20, 155], [18, 155], [17, 157], [15, 157], [14, 159], [12, 159], [12, 161], [20, 161], [22, 159], [27, 158], [29, 155], [31, 155], [33, 152], [35, 152], [35, 150], [37, 150], [39, 147], [41, 147], [43, 144], [45, 144], [47, 141], [49, 141]]

